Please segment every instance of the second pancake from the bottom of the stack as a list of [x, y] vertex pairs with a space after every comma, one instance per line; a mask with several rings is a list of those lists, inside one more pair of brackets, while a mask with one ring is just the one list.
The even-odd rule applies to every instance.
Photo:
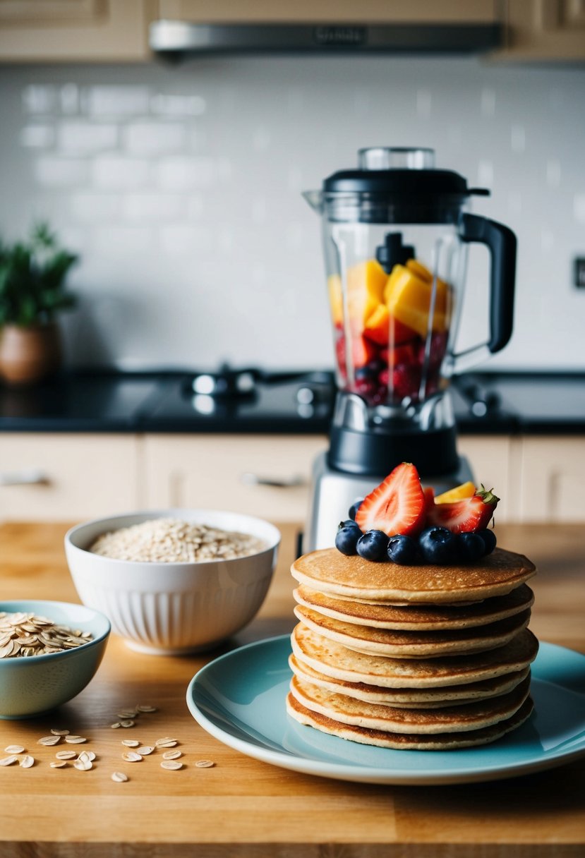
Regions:
[[368, 703], [329, 692], [293, 676], [290, 692], [311, 712], [334, 721], [390, 733], [437, 734], [461, 733], [491, 727], [510, 718], [520, 709], [530, 689], [528, 677], [516, 688], [498, 697], [440, 709], [399, 709], [395, 706]]

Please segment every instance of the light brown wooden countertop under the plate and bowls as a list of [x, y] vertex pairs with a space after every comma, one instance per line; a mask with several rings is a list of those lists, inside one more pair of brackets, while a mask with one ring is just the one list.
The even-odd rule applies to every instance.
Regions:
[[[294, 625], [296, 528], [283, 535], [278, 569], [256, 619], [224, 650], [288, 633]], [[64, 524], [0, 526], [2, 599], [78, 601], [63, 553]], [[531, 628], [541, 640], [585, 653], [582, 526], [498, 527], [499, 544], [539, 568]], [[0, 748], [21, 744], [30, 769], [0, 769], [0, 855], [51, 858], [524, 858], [585, 854], [585, 766], [470, 785], [375, 786], [299, 775], [257, 762], [200, 728], [185, 704], [191, 677], [209, 656], [144, 656], [112, 635], [98, 674], [52, 716], [0, 722]], [[2, 690], [0, 689], [0, 693]], [[152, 704], [135, 728], [112, 730], [123, 707]], [[93, 770], [51, 769], [55, 748], [37, 744], [51, 728], [87, 736]], [[121, 738], [181, 743], [185, 767], [158, 760], [125, 764]], [[213, 768], [196, 768], [198, 759]]]

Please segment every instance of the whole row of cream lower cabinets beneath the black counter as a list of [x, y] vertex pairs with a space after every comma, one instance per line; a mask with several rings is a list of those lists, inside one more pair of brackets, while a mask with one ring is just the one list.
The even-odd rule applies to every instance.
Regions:
[[[323, 435], [3, 432], [0, 520], [81, 521], [208, 507], [304, 522]], [[497, 523], [585, 521], [581, 436], [461, 435]]]

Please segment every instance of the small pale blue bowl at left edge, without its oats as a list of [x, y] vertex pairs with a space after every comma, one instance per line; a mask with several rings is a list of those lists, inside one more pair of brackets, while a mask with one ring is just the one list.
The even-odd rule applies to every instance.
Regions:
[[79, 694], [93, 678], [106, 651], [110, 620], [93, 608], [66, 601], [0, 601], [0, 612], [47, 617], [92, 640], [75, 650], [0, 659], [0, 718], [30, 718], [55, 709]]

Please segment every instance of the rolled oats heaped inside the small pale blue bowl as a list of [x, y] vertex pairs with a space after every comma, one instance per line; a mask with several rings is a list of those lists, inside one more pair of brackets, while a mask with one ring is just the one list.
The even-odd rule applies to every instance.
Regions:
[[34, 613], [0, 611], [0, 658], [75, 650], [92, 639], [89, 631], [69, 629]]

